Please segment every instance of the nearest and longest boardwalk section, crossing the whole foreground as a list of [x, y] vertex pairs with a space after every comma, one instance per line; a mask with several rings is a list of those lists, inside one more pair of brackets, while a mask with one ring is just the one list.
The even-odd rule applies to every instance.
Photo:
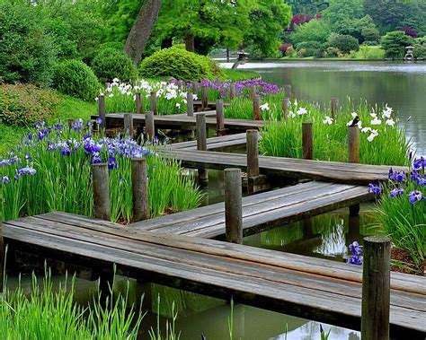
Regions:
[[[361, 270], [329, 260], [217, 240], [139, 231], [72, 214], [5, 222], [5, 243], [40, 257], [110, 268], [302, 318], [359, 329]], [[392, 336], [426, 335], [426, 279], [392, 274]]]

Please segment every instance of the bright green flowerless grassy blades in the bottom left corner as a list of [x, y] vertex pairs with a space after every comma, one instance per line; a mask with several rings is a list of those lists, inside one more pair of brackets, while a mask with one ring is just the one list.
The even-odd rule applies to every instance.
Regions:
[[46, 272], [42, 289], [32, 275], [30, 296], [21, 285], [11, 290], [7, 285], [0, 295], [0, 338], [2, 339], [137, 339], [143, 315], [128, 307], [128, 295], [100, 299], [84, 307], [74, 302], [75, 278], [53, 288]]

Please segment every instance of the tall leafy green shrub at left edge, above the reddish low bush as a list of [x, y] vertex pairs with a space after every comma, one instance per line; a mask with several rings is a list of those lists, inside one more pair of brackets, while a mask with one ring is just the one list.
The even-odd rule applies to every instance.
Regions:
[[0, 2], [0, 78], [49, 85], [57, 58], [42, 13], [30, 2]]

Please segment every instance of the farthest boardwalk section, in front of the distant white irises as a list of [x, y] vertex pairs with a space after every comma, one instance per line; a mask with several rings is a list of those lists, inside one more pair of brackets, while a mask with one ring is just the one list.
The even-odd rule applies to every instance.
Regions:
[[[205, 111], [207, 114], [206, 125], [209, 128], [216, 129], [216, 117], [210, 117], [216, 111]], [[145, 126], [144, 114], [133, 114], [133, 126]], [[98, 118], [97, 115], [92, 116], [93, 119]], [[164, 115], [154, 116], [155, 127], [169, 128], [169, 129], [191, 129], [195, 128], [195, 117], [189, 117], [185, 114], [182, 115]], [[245, 131], [248, 129], [259, 129], [264, 126], [265, 122], [262, 120], [248, 120], [248, 119], [225, 119], [225, 128], [229, 130]], [[110, 113], [106, 116], [107, 128], [123, 127], [124, 126], [124, 113]]]

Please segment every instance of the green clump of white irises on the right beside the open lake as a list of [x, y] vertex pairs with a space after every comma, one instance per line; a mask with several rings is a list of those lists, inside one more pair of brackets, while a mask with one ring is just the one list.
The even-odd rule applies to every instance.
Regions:
[[[261, 131], [260, 151], [278, 157], [302, 157], [302, 123], [312, 122], [314, 158], [322, 161], [347, 161], [347, 126], [358, 118], [359, 161], [366, 164], [407, 165], [410, 141], [397, 127], [393, 110], [371, 108], [366, 102], [354, 105], [351, 100], [335, 118], [317, 104], [294, 100], [288, 118], [281, 119], [280, 100], [269, 102], [271, 120]], [[252, 109], [253, 112], [253, 109]], [[235, 118], [238, 115], [235, 115]], [[280, 120], [281, 119], [281, 120]]]

